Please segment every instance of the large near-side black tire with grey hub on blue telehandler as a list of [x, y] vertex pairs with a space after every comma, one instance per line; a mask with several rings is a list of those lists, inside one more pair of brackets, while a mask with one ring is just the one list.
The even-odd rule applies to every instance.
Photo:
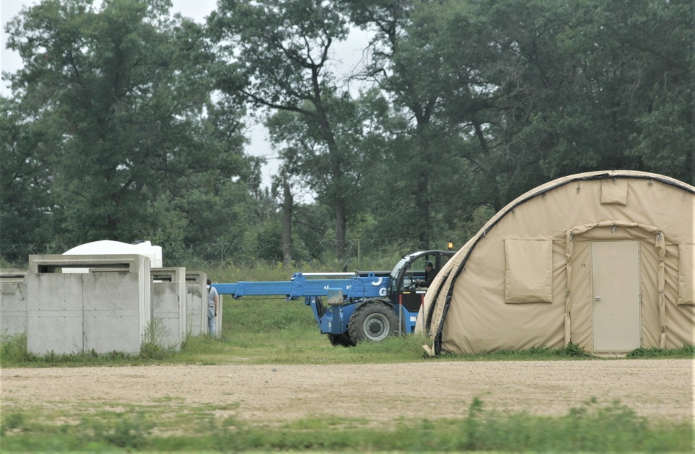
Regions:
[[347, 328], [355, 345], [364, 341], [379, 342], [395, 334], [398, 317], [383, 302], [368, 302], [352, 313]]

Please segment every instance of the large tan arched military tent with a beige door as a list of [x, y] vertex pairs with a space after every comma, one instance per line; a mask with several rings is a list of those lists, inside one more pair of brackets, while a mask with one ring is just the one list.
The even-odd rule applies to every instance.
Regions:
[[694, 216], [693, 186], [646, 172], [530, 190], [440, 270], [418, 316], [425, 350], [694, 345]]

